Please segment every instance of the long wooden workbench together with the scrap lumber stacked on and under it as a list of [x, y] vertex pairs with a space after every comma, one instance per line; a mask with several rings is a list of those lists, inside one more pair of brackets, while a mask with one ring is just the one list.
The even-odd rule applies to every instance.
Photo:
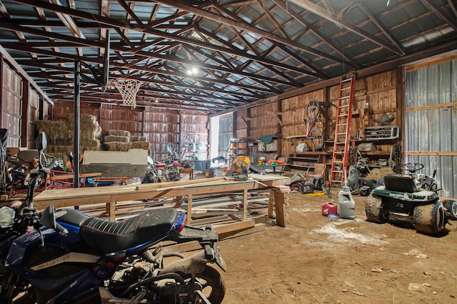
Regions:
[[285, 176], [253, 174], [247, 181], [203, 178], [58, 189], [39, 193], [34, 203], [37, 209], [49, 205], [55, 208], [79, 206], [81, 211], [93, 216], [109, 216], [112, 221], [135, 216], [145, 208], [179, 208], [187, 214], [187, 225], [211, 224], [226, 237], [255, 228], [257, 218], [263, 219], [264, 225], [264, 214], [271, 218], [273, 205], [277, 225], [286, 227], [284, 192], [287, 184], [290, 184], [290, 178]]

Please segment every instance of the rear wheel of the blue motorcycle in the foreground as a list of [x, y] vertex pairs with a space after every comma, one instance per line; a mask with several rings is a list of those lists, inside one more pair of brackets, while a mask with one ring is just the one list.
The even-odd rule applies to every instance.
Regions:
[[[184, 277], [184, 280], [187, 283], [191, 280], [191, 276]], [[222, 303], [222, 300], [224, 300], [224, 296], [226, 295], [226, 285], [218, 270], [206, 265], [203, 273], [196, 274], [196, 280], [201, 284], [201, 292], [211, 304]]]

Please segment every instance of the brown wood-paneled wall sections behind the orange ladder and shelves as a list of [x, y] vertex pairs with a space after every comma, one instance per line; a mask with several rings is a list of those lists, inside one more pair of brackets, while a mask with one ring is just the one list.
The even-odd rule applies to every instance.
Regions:
[[[404, 97], [403, 79], [398, 79], [399, 71], [401, 68], [360, 79], [356, 78], [351, 136], [356, 137], [358, 129], [363, 126], [378, 126], [379, 123], [375, 120], [381, 118], [383, 113], [395, 116], [392, 125], [402, 126], [403, 101], [399, 101], [398, 98]], [[328, 104], [328, 106], [321, 106], [321, 116], [318, 118], [316, 127], [323, 131], [327, 141], [331, 141], [335, 133], [338, 91], [339, 85], [323, 87], [300, 96], [239, 111], [237, 112], [236, 134], [243, 134], [244, 137], [253, 139], [274, 133], [281, 133], [283, 138], [305, 134], [306, 125], [303, 123], [303, 118], [306, 118], [306, 104], [308, 101], [316, 99], [326, 101]], [[281, 123], [278, 122], [278, 118]], [[245, 121], [248, 122], [248, 126]], [[313, 145], [307, 141], [300, 138], [294, 139], [294, 143], [301, 142], [305, 142], [310, 148], [313, 148]], [[390, 151], [392, 144], [391, 141], [386, 145], [381, 143], [378, 145], [378, 151]], [[331, 143], [327, 143], [324, 151], [330, 151], [332, 146]], [[295, 147], [296, 144], [291, 146], [289, 141], [283, 140], [281, 154], [287, 156], [289, 153], [295, 152]]]

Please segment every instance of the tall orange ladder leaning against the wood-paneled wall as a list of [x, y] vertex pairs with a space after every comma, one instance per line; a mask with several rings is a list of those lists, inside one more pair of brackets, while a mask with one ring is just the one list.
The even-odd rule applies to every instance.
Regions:
[[333, 142], [333, 155], [331, 162], [330, 186], [338, 183], [343, 185], [349, 158], [349, 142], [351, 138], [351, 118], [356, 76], [350, 78], [341, 77], [340, 91], [338, 96], [338, 108], [336, 111], [335, 141]]

